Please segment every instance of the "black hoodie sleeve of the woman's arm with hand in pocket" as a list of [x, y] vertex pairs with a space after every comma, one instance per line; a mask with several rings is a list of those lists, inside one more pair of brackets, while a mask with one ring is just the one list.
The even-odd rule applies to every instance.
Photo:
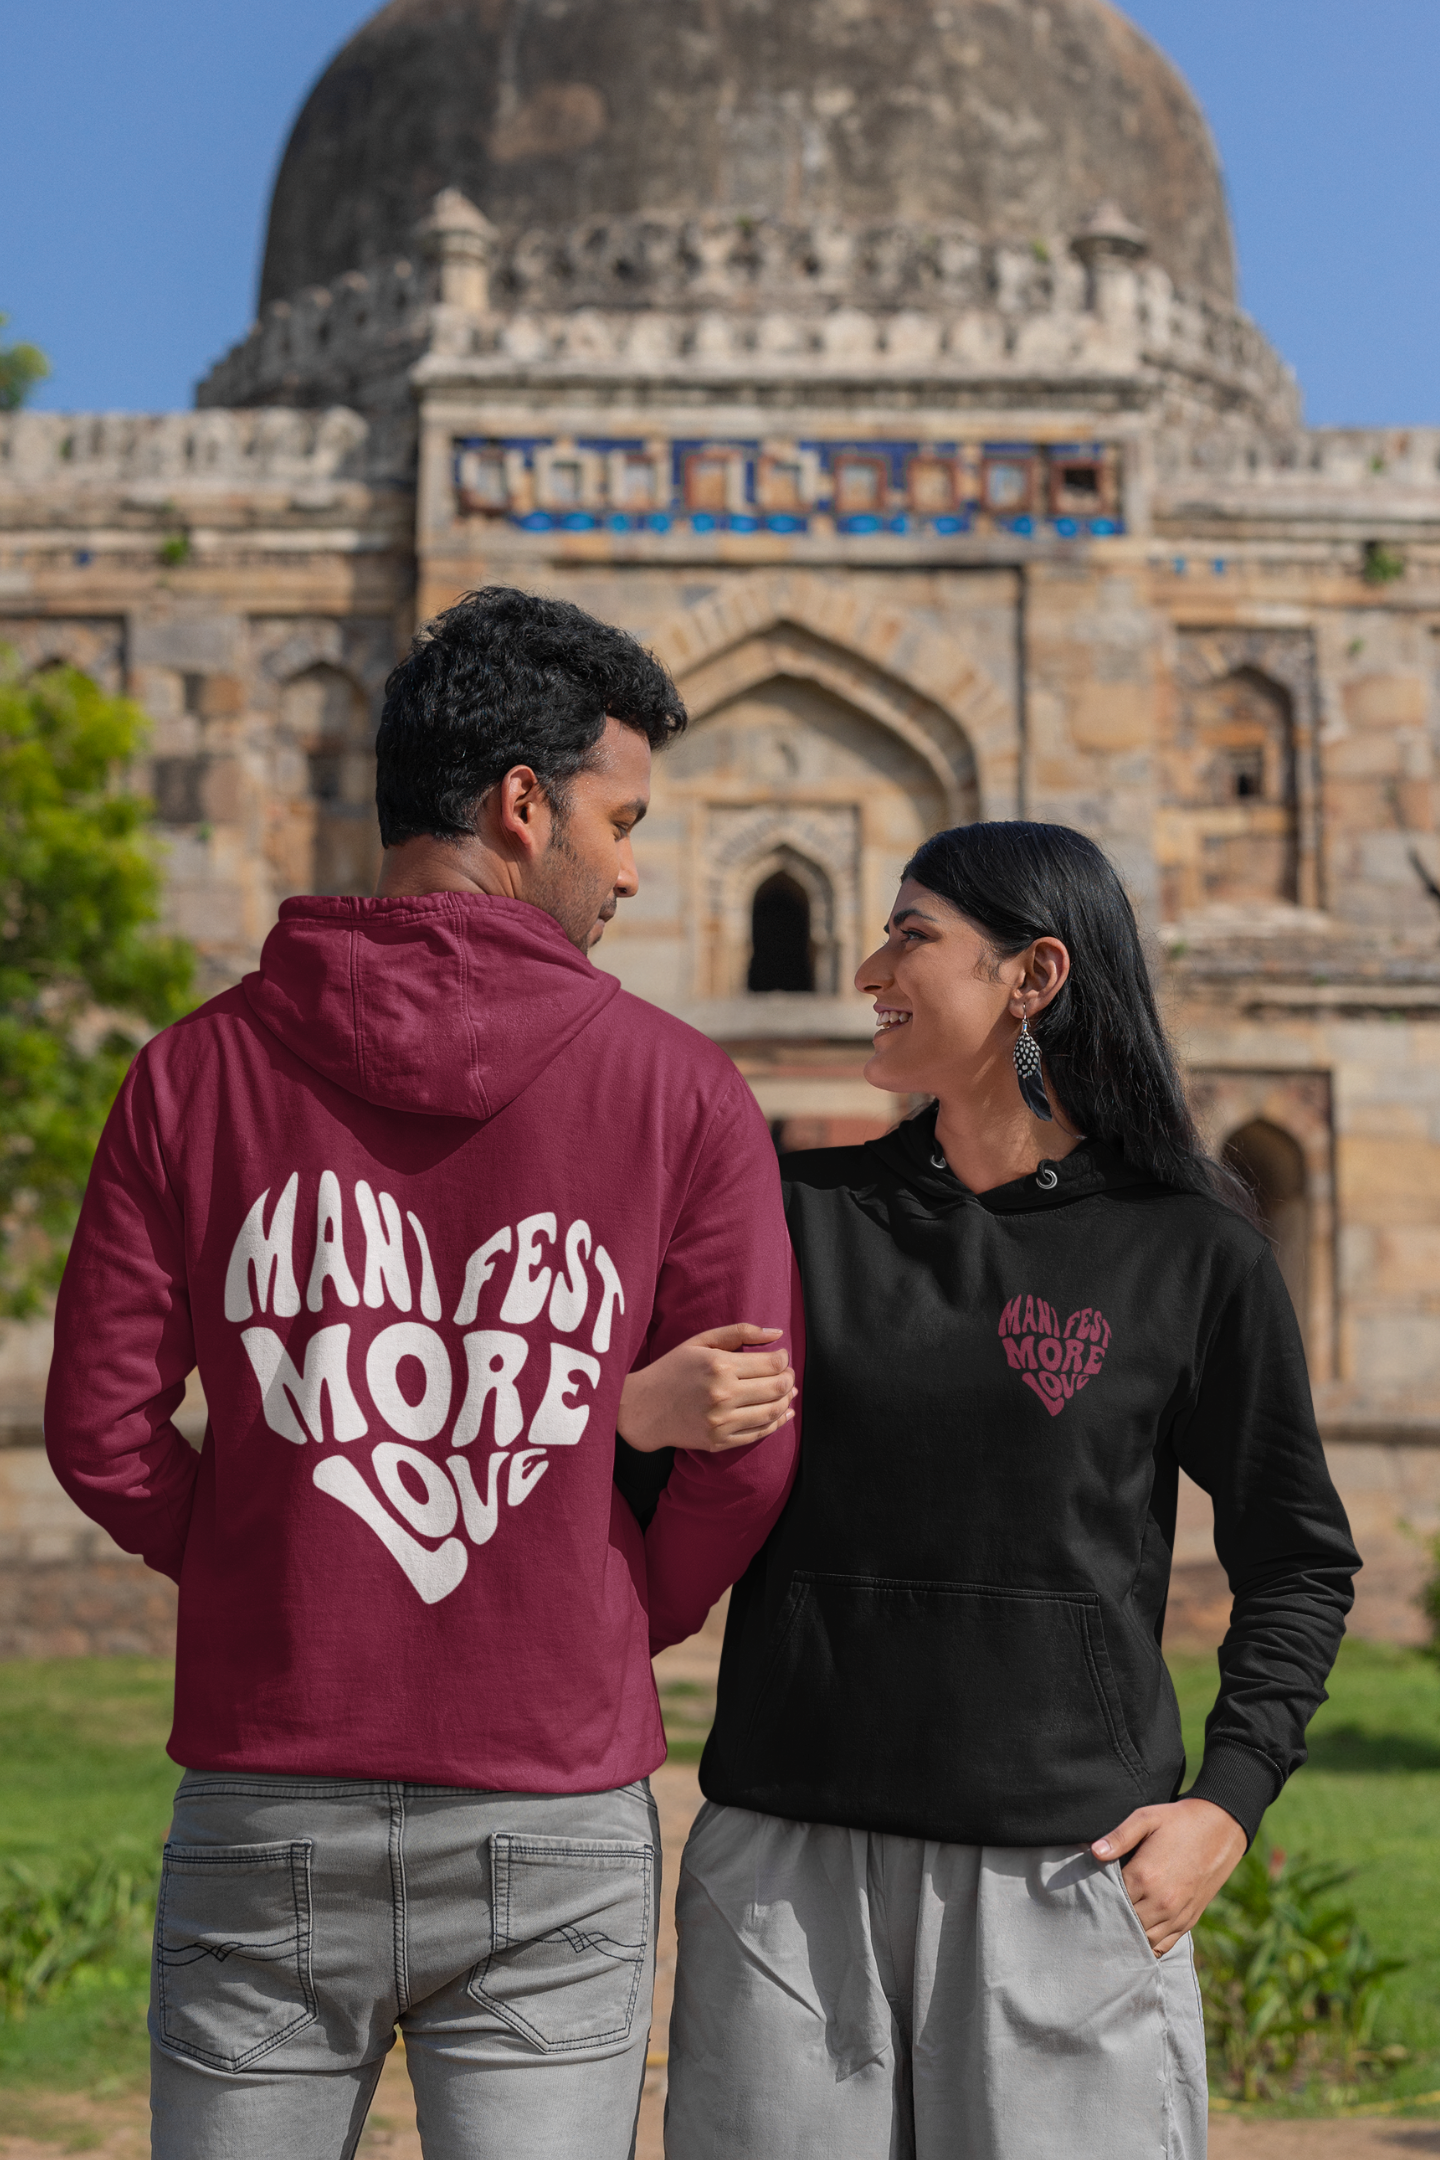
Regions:
[[1215, 1503], [1215, 1553], [1235, 1596], [1190, 1795], [1254, 1838], [1306, 1758], [1304, 1730], [1326, 1700], [1360, 1566], [1269, 1246], [1220, 1313], [1174, 1454]]

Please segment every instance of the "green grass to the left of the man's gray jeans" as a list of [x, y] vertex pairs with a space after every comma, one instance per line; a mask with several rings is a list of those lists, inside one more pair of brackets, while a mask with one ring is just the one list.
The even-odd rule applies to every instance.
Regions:
[[[164, 1752], [171, 1696], [171, 1668], [153, 1659], [0, 1663], [0, 1853], [60, 1868], [114, 1851], [158, 1875], [179, 1782]], [[0, 2087], [140, 2084], [147, 1994], [145, 1959], [134, 1957], [0, 2020]]]

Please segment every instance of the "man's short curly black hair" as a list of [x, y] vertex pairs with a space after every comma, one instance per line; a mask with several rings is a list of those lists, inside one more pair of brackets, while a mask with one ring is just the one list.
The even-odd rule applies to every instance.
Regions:
[[563, 812], [566, 782], [589, 762], [607, 717], [652, 750], [687, 724], [669, 674], [626, 631], [510, 585], [466, 592], [384, 685], [382, 845], [462, 838], [475, 804], [516, 765], [529, 765]]

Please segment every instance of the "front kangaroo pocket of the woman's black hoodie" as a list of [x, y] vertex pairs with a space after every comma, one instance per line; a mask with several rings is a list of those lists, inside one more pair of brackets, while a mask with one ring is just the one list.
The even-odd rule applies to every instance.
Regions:
[[1144, 1788], [1092, 1590], [797, 1572], [747, 1758], [758, 1808], [905, 1832], [946, 1795], [954, 1842], [1099, 1836]]

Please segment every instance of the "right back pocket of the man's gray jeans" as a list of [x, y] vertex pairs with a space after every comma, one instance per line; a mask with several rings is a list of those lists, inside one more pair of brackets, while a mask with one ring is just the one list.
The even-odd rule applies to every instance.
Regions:
[[473, 2000], [542, 2054], [624, 2046], [650, 1950], [654, 1847], [499, 1830], [490, 1886]]

